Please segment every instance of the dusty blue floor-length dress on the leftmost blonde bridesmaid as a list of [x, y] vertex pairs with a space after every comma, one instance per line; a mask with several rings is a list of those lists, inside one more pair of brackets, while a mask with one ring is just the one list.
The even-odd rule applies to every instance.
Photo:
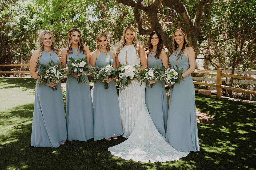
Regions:
[[[51, 56], [50, 56], [51, 54]], [[39, 62], [47, 65], [51, 60], [59, 64], [58, 55], [50, 51], [43, 51]], [[38, 66], [38, 70], [40, 70]], [[33, 112], [33, 124], [31, 134], [31, 146], [35, 147], [59, 147], [67, 139], [66, 120], [61, 83], [57, 90], [38, 83], [35, 87], [35, 103]]]

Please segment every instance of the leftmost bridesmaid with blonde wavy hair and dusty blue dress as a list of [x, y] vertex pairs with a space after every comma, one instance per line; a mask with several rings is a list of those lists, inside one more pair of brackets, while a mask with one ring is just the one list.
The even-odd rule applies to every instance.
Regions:
[[[37, 50], [31, 56], [30, 75], [37, 79], [38, 74], [36, 71], [41, 69], [40, 66], [36, 67], [37, 63], [47, 65], [51, 60], [61, 66], [62, 58], [55, 44], [53, 33], [43, 30], [38, 37]], [[31, 146], [59, 147], [59, 145], [65, 144], [67, 139], [61, 83], [42, 84], [39, 79], [37, 81]], [[57, 89], [53, 91], [51, 87], [56, 87]]]

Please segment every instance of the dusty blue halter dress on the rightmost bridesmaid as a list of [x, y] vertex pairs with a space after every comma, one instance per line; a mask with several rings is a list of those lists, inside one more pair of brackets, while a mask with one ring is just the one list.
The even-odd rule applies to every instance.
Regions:
[[[177, 59], [180, 50], [171, 54], [169, 62], [183, 69], [189, 69], [189, 59], [182, 54]], [[167, 121], [166, 141], [178, 151], [200, 151], [197, 132], [197, 113], [195, 108], [195, 90], [191, 75], [185, 81], [174, 84], [170, 90], [169, 112]]]

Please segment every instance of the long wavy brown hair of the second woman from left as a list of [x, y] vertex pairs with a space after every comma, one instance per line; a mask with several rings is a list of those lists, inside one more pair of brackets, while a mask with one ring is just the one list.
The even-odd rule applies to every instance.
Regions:
[[77, 32], [79, 33], [79, 36], [80, 36], [80, 40], [78, 41], [79, 53], [82, 51], [83, 54], [86, 55], [86, 51], [85, 51], [85, 49], [84, 49], [83, 39], [82, 39], [82, 36], [81, 36], [81, 32], [80, 32], [80, 30], [79, 30], [78, 28], [71, 28], [71, 29], [69, 30], [69, 33], [68, 33], [68, 35], [67, 35], [67, 53], [68, 53], [68, 54], [72, 54], [72, 53], [73, 53], [73, 52], [72, 52], [73, 49], [71, 48], [71, 45], [72, 45], [72, 40], [71, 40], [71, 38], [72, 38], [72, 36], [73, 36], [73, 34], [74, 34], [75, 31], [77, 31]]

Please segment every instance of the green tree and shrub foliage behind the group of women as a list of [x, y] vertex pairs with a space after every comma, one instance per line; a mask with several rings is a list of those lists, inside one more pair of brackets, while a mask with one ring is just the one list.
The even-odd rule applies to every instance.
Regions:
[[[171, 1], [175, 2], [172, 6], [167, 0], [161, 2], [157, 6], [157, 23], [160, 27], [154, 27], [155, 21], [150, 18], [154, 11], [147, 13], [138, 10], [143, 29], [154, 28], [166, 34], [169, 39], [175, 27], [185, 27], [189, 41], [195, 42], [196, 48], [199, 47], [203, 56], [199, 58], [205, 59], [205, 65], [209, 61], [215, 68], [256, 69], [254, 0], [179, 0]], [[130, 0], [0, 0], [0, 45], [3, 47], [0, 49], [0, 64], [28, 63], [42, 29], [54, 33], [60, 49], [66, 47], [67, 31], [73, 27], [81, 30], [83, 40], [91, 52], [96, 46], [96, 36], [101, 32], [107, 33], [110, 44], [114, 45], [120, 40], [123, 28], [127, 25], [133, 25], [140, 33], [138, 20], [135, 19], [137, 15], [134, 14], [135, 7], [131, 5], [133, 3]], [[159, 2], [138, 0], [137, 3], [149, 8]], [[178, 6], [181, 4], [183, 6], [180, 8], [185, 7], [188, 18], [184, 18], [179, 11]], [[194, 23], [197, 25], [195, 30], [187, 22], [195, 22], [200, 10], [202, 16], [198, 19], [199, 25]], [[140, 44], [146, 47], [147, 38], [146, 34], [139, 36]], [[171, 41], [165, 40], [164, 43], [169, 49]], [[8, 67], [2, 69], [10, 70]]]

